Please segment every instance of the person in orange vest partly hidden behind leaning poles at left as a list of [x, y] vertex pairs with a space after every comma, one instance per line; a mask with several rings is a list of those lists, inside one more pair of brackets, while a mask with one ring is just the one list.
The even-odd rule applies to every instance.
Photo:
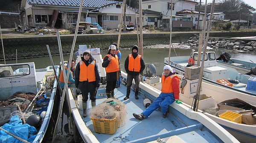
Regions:
[[[69, 63], [69, 61], [68, 61], [68, 63]], [[74, 67], [75, 67], [75, 60], [72, 59], [71, 66], [70, 66], [70, 73], [69, 73], [70, 75], [68, 77], [67, 86], [75, 88]], [[68, 70], [68, 65], [65, 66], [66, 76], [67, 76], [67, 70]], [[59, 81], [60, 81], [60, 87], [63, 89], [65, 86], [63, 70], [61, 70], [61, 75], [60, 75]]]

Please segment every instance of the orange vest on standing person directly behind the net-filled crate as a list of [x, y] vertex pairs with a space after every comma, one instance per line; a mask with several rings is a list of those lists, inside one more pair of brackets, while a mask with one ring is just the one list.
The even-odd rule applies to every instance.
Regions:
[[79, 81], [96, 81], [95, 76], [95, 61], [91, 62], [88, 67], [83, 61], [79, 61], [80, 64], [80, 73], [79, 73]]

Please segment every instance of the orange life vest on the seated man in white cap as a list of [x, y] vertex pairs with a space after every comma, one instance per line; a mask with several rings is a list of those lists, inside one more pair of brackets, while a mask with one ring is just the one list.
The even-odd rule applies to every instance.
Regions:
[[175, 74], [173, 74], [172, 76], [168, 76], [167, 78], [163, 75], [162, 76], [162, 93], [173, 93], [172, 90], [172, 79], [174, 78], [179, 78], [178, 76], [176, 76]]

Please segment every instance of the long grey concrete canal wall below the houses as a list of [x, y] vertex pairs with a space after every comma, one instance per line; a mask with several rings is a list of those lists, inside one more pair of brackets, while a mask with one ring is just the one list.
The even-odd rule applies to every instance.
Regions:
[[[198, 34], [199, 32], [175, 32], [172, 34], [172, 42], [187, 42], [190, 37]], [[256, 36], [256, 32], [210, 33], [210, 37], [230, 38], [239, 36]], [[74, 35], [61, 35], [61, 47], [63, 53], [70, 53], [73, 38]], [[117, 42], [117, 39], [118, 34], [81, 34], [77, 36], [74, 51], [78, 50], [79, 45], [90, 45], [92, 48], [100, 48], [101, 50], [105, 50], [112, 42]], [[169, 44], [169, 42], [170, 33], [143, 34], [143, 46]], [[16, 49], [18, 59], [48, 56], [46, 45], [49, 45], [52, 55], [59, 54], [57, 36], [3, 38], [3, 45], [6, 60], [16, 59]], [[133, 45], [137, 45], [137, 34], [122, 33], [119, 47], [121, 49], [131, 48]], [[0, 55], [0, 60], [3, 60], [3, 50], [0, 50]]]

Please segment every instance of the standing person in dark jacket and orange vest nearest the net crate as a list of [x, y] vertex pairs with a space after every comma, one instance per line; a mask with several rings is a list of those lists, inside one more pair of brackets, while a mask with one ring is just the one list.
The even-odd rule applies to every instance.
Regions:
[[91, 105], [96, 105], [96, 93], [99, 89], [100, 76], [98, 65], [94, 60], [91, 52], [85, 50], [81, 61], [76, 65], [75, 85], [82, 93], [83, 116], [87, 116], [87, 100], [90, 93]]

